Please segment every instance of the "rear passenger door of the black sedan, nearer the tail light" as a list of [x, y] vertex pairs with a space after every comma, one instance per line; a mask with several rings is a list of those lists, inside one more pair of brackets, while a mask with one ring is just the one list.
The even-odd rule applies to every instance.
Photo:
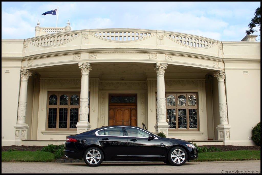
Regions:
[[122, 127], [105, 128], [97, 132], [106, 157], [125, 159], [128, 155], [127, 137], [123, 135]]

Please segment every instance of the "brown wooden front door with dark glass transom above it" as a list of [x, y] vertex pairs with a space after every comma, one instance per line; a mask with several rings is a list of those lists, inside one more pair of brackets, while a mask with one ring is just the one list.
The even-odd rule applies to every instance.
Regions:
[[137, 126], [136, 97], [136, 94], [109, 94], [109, 126]]

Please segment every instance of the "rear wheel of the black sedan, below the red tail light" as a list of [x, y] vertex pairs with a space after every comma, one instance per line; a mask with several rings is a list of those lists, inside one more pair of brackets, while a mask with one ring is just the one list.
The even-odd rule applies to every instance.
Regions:
[[90, 167], [99, 166], [103, 162], [103, 159], [104, 154], [102, 150], [96, 147], [91, 147], [84, 153], [84, 161]]

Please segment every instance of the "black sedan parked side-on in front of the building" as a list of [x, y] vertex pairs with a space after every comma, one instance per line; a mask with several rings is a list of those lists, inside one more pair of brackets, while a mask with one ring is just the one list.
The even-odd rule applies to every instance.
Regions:
[[194, 144], [163, 138], [136, 126], [105, 126], [66, 137], [64, 155], [88, 166], [103, 161], [163, 161], [183, 165], [198, 158]]

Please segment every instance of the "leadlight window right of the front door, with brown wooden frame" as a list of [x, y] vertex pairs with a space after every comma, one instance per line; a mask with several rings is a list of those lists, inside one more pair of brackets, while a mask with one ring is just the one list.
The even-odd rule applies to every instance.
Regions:
[[196, 93], [166, 93], [166, 119], [169, 130], [198, 130], [197, 101]]

